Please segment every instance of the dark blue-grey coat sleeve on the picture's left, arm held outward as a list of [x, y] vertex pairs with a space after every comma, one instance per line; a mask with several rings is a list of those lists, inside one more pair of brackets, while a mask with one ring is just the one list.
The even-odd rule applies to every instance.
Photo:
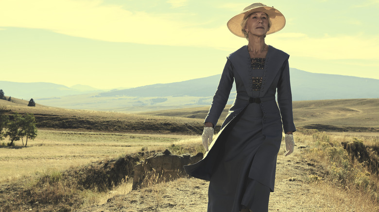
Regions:
[[221, 113], [228, 101], [230, 90], [232, 89], [233, 78], [233, 65], [229, 59], [227, 59], [223, 74], [221, 75], [217, 91], [213, 96], [212, 104], [209, 108], [208, 115], [205, 122], [211, 122], [213, 126], [216, 126]]

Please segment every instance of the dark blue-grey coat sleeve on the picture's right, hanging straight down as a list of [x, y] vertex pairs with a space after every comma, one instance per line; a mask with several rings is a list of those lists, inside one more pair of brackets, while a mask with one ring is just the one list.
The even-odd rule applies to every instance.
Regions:
[[288, 60], [283, 63], [277, 84], [277, 102], [282, 116], [284, 132], [296, 131], [293, 123], [292, 93]]

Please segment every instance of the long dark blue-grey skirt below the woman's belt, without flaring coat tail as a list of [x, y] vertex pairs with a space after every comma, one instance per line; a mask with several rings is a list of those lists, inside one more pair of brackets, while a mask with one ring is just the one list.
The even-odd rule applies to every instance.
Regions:
[[227, 126], [218, 162], [213, 169], [208, 190], [208, 212], [239, 212], [249, 208], [267, 212], [270, 188], [249, 178], [256, 166], [255, 155], [265, 142], [262, 135], [263, 113], [251, 103]]

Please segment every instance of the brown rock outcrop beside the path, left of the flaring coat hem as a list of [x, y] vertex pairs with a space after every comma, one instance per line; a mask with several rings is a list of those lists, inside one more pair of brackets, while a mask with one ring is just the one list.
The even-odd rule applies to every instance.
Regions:
[[134, 167], [132, 190], [187, 176], [183, 166], [197, 163], [201, 159], [203, 159], [202, 152], [195, 156], [175, 155], [169, 150], [155, 153]]

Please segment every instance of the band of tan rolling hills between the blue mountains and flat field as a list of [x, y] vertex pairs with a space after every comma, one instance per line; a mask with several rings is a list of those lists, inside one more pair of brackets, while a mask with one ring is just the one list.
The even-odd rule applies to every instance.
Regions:
[[[0, 100], [0, 106], [20, 114], [33, 113], [38, 128], [83, 131], [155, 132], [201, 134], [208, 106], [126, 114], [93, 110], [73, 110], [36, 105], [28, 101]], [[216, 131], [227, 114], [226, 106]], [[312, 100], [293, 102], [298, 128], [326, 131], [379, 132], [379, 99]]]

